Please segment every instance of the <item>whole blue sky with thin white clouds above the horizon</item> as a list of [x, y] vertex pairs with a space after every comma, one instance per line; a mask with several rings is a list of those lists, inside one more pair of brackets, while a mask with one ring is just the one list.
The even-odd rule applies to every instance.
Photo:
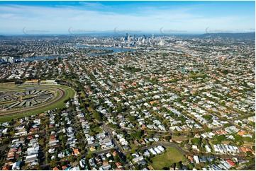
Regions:
[[0, 35], [251, 31], [255, 1], [0, 1]]

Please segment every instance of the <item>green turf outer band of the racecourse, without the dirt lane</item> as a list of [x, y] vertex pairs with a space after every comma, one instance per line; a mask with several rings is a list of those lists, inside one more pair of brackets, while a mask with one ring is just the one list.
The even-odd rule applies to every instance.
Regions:
[[[0, 90], [11, 90], [11, 89], [17, 89], [17, 88], [29, 88], [32, 86], [11, 86], [11, 87], [0, 87]], [[61, 99], [58, 100], [57, 102], [55, 102], [52, 105], [48, 105], [45, 107], [40, 107], [38, 106], [37, 109], [30, 111], [30, 112], [22, 112], [22, 113], [17, 113], [17, 114], [10, 114], [7, 116], [0, 116], [0, 122], [8, 122], [11, 119], [15, 119], [15, 118], [20, 118], [20, 117], [29, 117], [33, 114], [39, 114], [41, 112], [44, 112], [46, 110], [52, 110], [55, 108], [63, 108], [65, 107], [64, 101], [67, 100], [68, 98], [73, 98], [74, 97], [74, 90], [72, 90], [72, 88], [69, 88], [67, 86], [61, 86], [61, 85], [43, 85], [43, 86], [33, 86], [35, 88], [40, 87], [40, 88], [60, 88], [62, 90], [65, 90], [65, 96]], [[53, 98], [52, 100], [55, 100], [56, 98], [60, 97], [60, 92], [57, 91], [57, 94], [55, 95], [55, 98]]]

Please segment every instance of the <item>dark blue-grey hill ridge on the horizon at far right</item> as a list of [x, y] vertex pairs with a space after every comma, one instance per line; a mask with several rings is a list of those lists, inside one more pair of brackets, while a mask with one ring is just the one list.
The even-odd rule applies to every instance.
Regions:
[[255, 32], [252, 33], [206, 33], [199, 37], [226, 37], [226, 38], [252, 38], [255, 39]]

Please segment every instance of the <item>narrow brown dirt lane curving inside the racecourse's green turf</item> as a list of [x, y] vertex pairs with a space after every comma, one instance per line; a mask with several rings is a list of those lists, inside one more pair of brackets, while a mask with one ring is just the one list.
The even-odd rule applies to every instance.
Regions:
[[21, 114], [23, 112], [30, 112], [30, 111], [33, 111], [33, 110], [38, 110], [39, 108], [42, 108], [42, 107], [47, 107], [47, 106], [52, 105], [55, 102], [58, 102], [59, 100], [61, 100], [65, 96], [65, 93], [66, 93], [65, 90], [62, 90], [61, 88], [53, 88], [53, 87], [49, 88], [49, 87], [47, 87], [47, 88], [43, 88], [43, 89], [50, 89], [50, 90], [56, 89], [60, 92], [60, 96], [58, 98], [50, 101], [50, 102], [47, 102], [47, 103], [43, 104], [43, 105], [38, 105], [38, 106], [35, 106], [35, 107], [28, 107], [26, 109], [16, 110], [16, 111], [15, 110], [10, 110], [8, 112], [1, 112], [0, 116], [6, 116], [6, 115], [10, 115], [10, 114]]

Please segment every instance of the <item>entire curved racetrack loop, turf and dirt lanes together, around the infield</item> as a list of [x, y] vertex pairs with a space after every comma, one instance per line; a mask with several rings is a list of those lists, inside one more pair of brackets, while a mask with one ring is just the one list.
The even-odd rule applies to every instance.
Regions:
[[34, 114], [39, 114], [47, 110], [65, 107], [65, 100], [74, 97], [74, 90], [62, 85], [39, 85], [39, 86], [0, 86], [0, 91], [17, 91], [25, 88], [36, 88], [40, 90], [51, 90], [55, 92], [55, 97], [49, 102], [44, 102], [33, 107], [25, 107], [21, 109], [0, 111], [0, 122], [8, 122], [11, 119], [20, 117], [29, 117]]

